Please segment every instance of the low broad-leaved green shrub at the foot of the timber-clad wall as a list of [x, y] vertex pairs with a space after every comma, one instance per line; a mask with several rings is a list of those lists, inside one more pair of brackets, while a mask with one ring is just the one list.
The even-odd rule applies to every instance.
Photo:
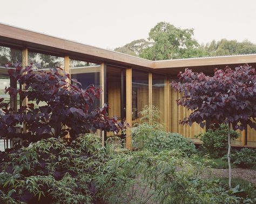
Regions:
[[156, 129], [153, 125], [147, 123], [142, 123], [133, 128], [132, 136], [134, 146], [153, 152], [178, 150], [188, 156], [196, 153], [196, 147], [191, 139], [185, 138], [178, 133]]

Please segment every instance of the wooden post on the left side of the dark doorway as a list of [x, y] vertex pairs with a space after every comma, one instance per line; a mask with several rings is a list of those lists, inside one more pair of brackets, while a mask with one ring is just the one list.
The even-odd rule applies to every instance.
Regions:
[[[100, 64], [100, 87], [102, 87], [103, 93], [100, 95], [100, 106], [103, 107], [105, 103], [105, 76], [106, 76], [106, 64]], [[105, 132], [100, 131], [99, 136], [102, 138], [102, 146], [105, 146]]]

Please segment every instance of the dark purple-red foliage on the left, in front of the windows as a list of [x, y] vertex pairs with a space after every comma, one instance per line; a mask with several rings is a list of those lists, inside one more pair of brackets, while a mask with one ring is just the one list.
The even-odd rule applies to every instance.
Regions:
[[[116, 118], [107, 117], [107, 105], [89, 111], [95, 99], [102, 94], [100, 88], [91, 85], [82, 89], [76, 79], [72, 79], [75, 85], [71, 84], [69, 74], [59, 67], [45, 72], [32, 70], [32, 66], [14, 66], [15, 69], [9, 69], [10, 78], [25, 88], [9, 87], [5, 92], [12, 97], [19, 94], [21, 100], [27, 97], [37, 104], [43, 102], [43, 105], [35, 108], [35, 104], [29, 103], [28, 107], [21, 106], [15, 111], [0, 99], [0, 137], [19, 137], [31, 142], [41, 138], [63, 137], [69, 133], [72, 139], [90, 130], [118, 131], [122, 128]], [[15, 126], [24, 122], [28, 132], [17, 133]]]

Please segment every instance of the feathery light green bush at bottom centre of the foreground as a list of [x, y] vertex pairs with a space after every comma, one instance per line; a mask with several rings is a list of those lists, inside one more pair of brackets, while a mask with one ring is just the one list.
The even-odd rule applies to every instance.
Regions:
[[108, 203], [236, 203], [218, 182], [200, 179], [204, 166], [176, 151], [119, 154], [101, 167], [97, 186]]

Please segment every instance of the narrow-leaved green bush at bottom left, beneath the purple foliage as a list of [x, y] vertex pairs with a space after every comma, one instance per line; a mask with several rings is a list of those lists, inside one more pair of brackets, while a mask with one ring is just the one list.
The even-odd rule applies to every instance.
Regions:
[[94, 135], [78, 137], [71, 145], [49, 138], [9, 154], [2, 152], [0, 203], [101, 202], [93, 172], [104, 161], [103, 152]]

